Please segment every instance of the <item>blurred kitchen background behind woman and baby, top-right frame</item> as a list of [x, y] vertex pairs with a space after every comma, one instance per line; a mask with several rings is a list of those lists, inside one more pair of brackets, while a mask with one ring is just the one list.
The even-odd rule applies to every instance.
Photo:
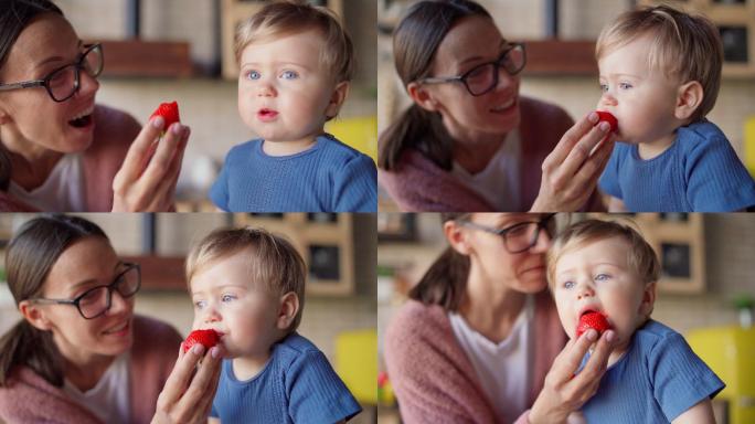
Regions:
[[[721, 91], [709, 119], [729, 137], [755, 176], [755, 0], [477, 0], [495, 18], [504, 38], [527, 44], [521, 94], [563, 107], [572, 118], [593, 110], [599, 99], [595, 40], [621, 12], [668, 3], [702, 13], [721, 33], [724, 68]], [[408, 104], [392, 55], [392, 33], [416, 0], [379, 0], [379, 134]], [[396, 208], [380, 193], [381, 211]]]

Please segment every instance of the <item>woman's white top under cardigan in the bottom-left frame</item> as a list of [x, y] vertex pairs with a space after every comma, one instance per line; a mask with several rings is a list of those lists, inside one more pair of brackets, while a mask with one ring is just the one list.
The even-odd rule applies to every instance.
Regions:
[[128, 351], [117, 357], [99, 379], [97, 385], [83, 393], [68, 380], [64, 381], [65, 391], [74, 401], [86, 406], [104, 423], [128, 424], [131, 418], [129, 399], [130, 379]]

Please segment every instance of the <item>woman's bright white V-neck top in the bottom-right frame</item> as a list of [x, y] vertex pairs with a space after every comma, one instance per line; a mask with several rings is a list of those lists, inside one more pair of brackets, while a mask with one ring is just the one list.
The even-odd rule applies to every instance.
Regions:
[[511, 333], [500, 343], [469, 327], [458, 314], [449, 312], [454, 335], [496, 410], [498, 422], [513, 423], [527, 409], [532, 375], [532, 322], [534, 297], [528, 295]]

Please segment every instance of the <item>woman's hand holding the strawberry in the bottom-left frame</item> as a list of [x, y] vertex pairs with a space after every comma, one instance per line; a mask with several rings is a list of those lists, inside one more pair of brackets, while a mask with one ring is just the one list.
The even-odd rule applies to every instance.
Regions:
[[[202, 363], [196, 369], [200, 360]], [[194, 344], [187, 353], [183, 353], [181, 343], [179, 359], [158, 396], [152, 424], [206, 423], [220, 380], [221, 363], [220, 347], [210, 349], [205, 356], [201, 343]]]

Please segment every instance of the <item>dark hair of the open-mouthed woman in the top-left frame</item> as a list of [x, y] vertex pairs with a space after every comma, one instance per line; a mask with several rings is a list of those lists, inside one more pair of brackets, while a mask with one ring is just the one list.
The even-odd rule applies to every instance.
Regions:
[[[63, 15], [63, 11], [50, 0], [2, 0], [0, 8], [0, 70], [6, 66], [8, 55], [21, 32], [39, 14], [51, 12]], [[7, 82], [0, 81], [0, 83]], [[0, 144], [0, 190], [8, 191], [10, 177], [10, 157]]]

